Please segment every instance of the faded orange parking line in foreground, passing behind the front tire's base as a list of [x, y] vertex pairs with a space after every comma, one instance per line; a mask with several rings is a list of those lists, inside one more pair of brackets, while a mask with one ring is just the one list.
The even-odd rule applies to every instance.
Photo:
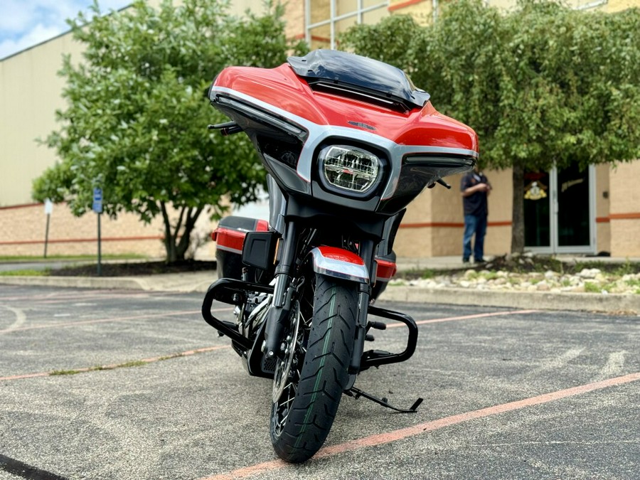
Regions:
[[[531, 398], [525, 398], [523, 400], [516, 400], [514, 402], [507, 402], [501, 405], [494, 405], [493, 407], [481, 408], [480, 410], [473, 410], [471, 412], [464, 412], [459, 415], [452, 415], [450, 417], [440, 418], [438, 420], [432, 420], [431, 422], [420, 423], [412, 427], [401, 428], [394, 430], [393, 432], [385, 432], [381, 434], [370, 435], [360, 439], [351, 440], [350, 442], [344, 442], [331, 447], [324, 447], [320, 449], [318, 453], [309, 461], [313, 462], [314, 459], [321, 459], [324, 457], [332, 457], [344, 452], [351, 452], [353, 450], [375, 447], [385, 443], [395, 442], [397, 440], [405, 439], [408, 437], [415, 437], [424, 432], [432, 432], [444, 427], [450, 427], [469, 420], [476, 420], [482, 417], [489, 417], [491, 415], [498, 415], [504, 412], [511, 412], [513, 410], [520, 410], [525, 407], [533, 407], [534, 405], [540, 405], [543, 403], [553, 402], [554, 400], [560, 400], [562, 398], [572, 397], [574, 395], [580, 395], [582, 393], [592, 392], [593, 390], [602, 390], [603, 388], [613, 387], [615, 385], [622, 385], [624, 383], [634, 382], [640, 380], [640, 372], [629, 373], [629, 375], [622, 375], [621, 377], [609, 378], [608, 380], [602, 380], [600, 382], [587, 383], [586, 385], [579, 385], [577, 387], [565, 388], [564, 390], [558, 390], [556, 392], [545, 393]], [[231, 479], [243, 479], [247, 476], [262, 474], [267, 471], [280, 469], [289, 464], [282, 462], [282, 460], [272, 460], [270, 462], [263, 462], [261, 464], [255, 464], [245, 466], [241, 469], [236, 469], [225, 474], [218, 474], [215, 476], [204, 477], [201, 480], [231, 480]]]

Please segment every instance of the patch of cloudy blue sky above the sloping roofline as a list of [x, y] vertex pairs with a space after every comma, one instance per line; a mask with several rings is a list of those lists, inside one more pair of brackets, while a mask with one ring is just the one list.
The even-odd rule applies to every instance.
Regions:
[[[132, 0], [98, 0], [107, 13]], [[67, 18], [88, 11], [93, 0], [0, 0], [0, 58], [8, 57], [69, 31]]]

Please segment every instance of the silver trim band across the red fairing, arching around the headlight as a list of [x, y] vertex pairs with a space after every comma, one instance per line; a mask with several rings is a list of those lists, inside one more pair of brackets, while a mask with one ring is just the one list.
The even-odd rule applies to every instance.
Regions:
[[238, 92], [238, 90], [213, 85], [210, 90], [210, 100], [212, 99], [212, 97], [215, 98], [214, 96], [217, 94], [227, 95], [228, 97], [235, 97], [238, 100], [242, 100], [243, 102], [256, 105], [263, 110], [267, 110], [268, 112], [273, 112], [280, 117], [287, 118], [291, 122], [299, 124], [302, 128], [306, 129], [306, 131], [309, 132], [309, 137], [307, 137], [306, 142], [304, 142], [304, 145], [302, 146], [302, 152], [298, 160], [297, 173], [298, 176], [307, 183], [311, 182], [311, 165], [313, 164], [314, 150], [316, 149], [316, 146], [321, 144], [321, 142], [323, 142], [327, 137], [343, 137], [344, 139], [355, 139], [359, 142], [370, 144], [371, 146], [375, 146], [378, 149], [382, 149], [383, 151], [385, 151], [385, 153], [388, 154], [388, 159], [391, 161], [391, 172], [389, 181], [385, 186], [382, 194], [383, 200], [391, 198], [393, 196], [393, 193], [395, 192], [395, 189], [398, 187], [402, 158], [407, 154], [454, 154], [471, 156], [473, 158], [477, 158], [479, 156], [478, 152], [474, 150], [454, 149], [444, 146], [430, 145], [402, 145], [397, 144], [393, 142], [393, 140], [390, 140], [388, 138], [381, 137], [378, 134], [364, 132], [361, 129], [337, 127], [335, 125], [319, 125], [314, 122], [310, 122], [305, 118], [299, 117], [296, 114], [287, 112], [287, 110], [282, 110], [279, 107], [275, 107], [270, 103], [258, 100], [257, 98], [251, 97], [250, 95], [247, 95], [245, 93]]

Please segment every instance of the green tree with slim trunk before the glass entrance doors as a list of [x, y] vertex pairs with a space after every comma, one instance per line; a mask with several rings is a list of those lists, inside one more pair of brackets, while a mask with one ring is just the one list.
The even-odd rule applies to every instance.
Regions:
[[513, 169], [512, 252], [524, 249], [525, 171], [640, 158], [639, 9], [460, 0], [434, 25], [390, 16], [342, 41], [407, 70], [440, 112], [476, 129], [481, 164]]

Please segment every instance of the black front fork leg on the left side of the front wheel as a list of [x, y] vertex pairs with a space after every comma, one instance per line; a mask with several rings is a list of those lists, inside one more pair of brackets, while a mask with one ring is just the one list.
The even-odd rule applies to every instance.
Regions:
[[279, 351], [285, 320], [291, 310], [291, 301], [294, 294], [294, 289], [291, 285], [291, 272], [295, 261], [297, 236], [296, 225], [292, 222], [287, 223], [282, 236], [281, 254], [274, 272], [273, 305], [269, 309], [267, 324], [265, 325], [265, 344], [262, 351], [267, 358], [272, 358]]

